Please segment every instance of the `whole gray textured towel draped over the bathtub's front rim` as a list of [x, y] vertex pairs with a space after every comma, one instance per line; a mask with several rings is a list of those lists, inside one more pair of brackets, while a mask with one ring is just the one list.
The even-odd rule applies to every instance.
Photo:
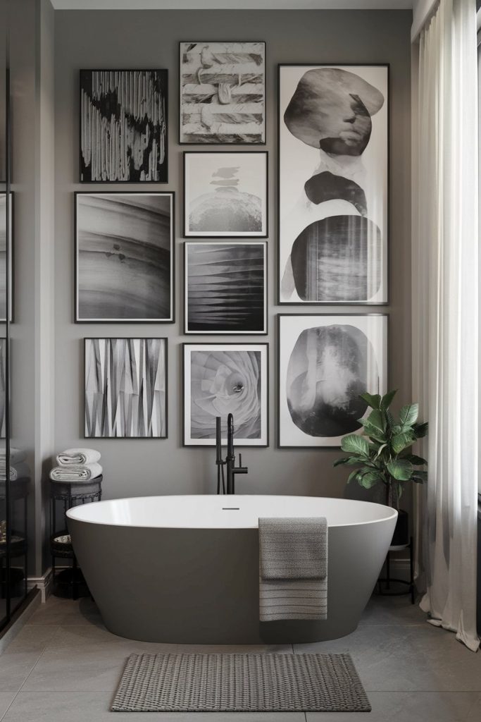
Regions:
[[260, 621], [327, 619], [327, 521], [259, 519]]

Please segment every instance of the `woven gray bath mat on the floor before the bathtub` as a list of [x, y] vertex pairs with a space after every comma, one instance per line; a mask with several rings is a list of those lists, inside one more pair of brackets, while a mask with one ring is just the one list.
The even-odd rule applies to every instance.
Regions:
[[370, 712], [348, 654], [131, 654], [112, 712]]

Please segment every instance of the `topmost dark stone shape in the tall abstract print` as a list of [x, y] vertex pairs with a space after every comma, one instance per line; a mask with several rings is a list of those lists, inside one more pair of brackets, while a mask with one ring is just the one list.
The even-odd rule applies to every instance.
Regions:
[[289, 131], [330, 155], [362, 155], [371, 137], [371, 116], [382, 93], [350, 71], [315, 68], [304, 73], [284, 113]]

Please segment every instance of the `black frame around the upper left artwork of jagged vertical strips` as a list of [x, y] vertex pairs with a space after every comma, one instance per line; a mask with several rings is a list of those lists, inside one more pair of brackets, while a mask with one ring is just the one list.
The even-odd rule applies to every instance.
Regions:
[[[82, 125], [83, 117], [81, 113], [82, 108], [82, 77], [85, 73], [94, 72], [115, 72], [115, 73], [152, 73], [159, 74], [160, 82], [162, 82], [162, 90], [164, 92], [164, 109], [165, 109], [165, 130], [164, 130], [164, 147], [165, 147], [165, 160], [162, 163], [162, 177], [159, 179], [152, 178], [149, 181], [132, 180], [130, 177], [122, 180], [115, 180], [111, 178], [104, 179], [92, 179], [84, 178], [83, 175], [83, 162], [82, 162]], [[168, 183], [169, 182], [169, 71], [166, 68], [82, 68], [79, 71], [79, 182], [80, 183]]]

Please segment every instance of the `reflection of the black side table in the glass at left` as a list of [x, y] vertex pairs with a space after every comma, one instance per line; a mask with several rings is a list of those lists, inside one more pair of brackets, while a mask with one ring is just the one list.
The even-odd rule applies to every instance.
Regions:
[[[0, 481], [0, 508], [4, 508], [6, 501], [6, 482], [5, 479]], [[10, 559], [19, 559], [22, 557], [22, 567], [12, 567], [10, 569], [10, 581], [17, 589], [15, 596], [26, 596], [27, 594], [27, 497], [30, 490], [30, 477], [19, 477], [10, 482], [9, 486], [9, 503], [11, 509], [12, 532], [10, 534]], [[20, 503], [18, 513], [15, 513], [15, 505]], [[0, 514], [0, 521], [3, 513]], [[6, 597], [6, 567], [4, 560], [6, 559], [6, 541], [0, 539], [0, 599]]]

